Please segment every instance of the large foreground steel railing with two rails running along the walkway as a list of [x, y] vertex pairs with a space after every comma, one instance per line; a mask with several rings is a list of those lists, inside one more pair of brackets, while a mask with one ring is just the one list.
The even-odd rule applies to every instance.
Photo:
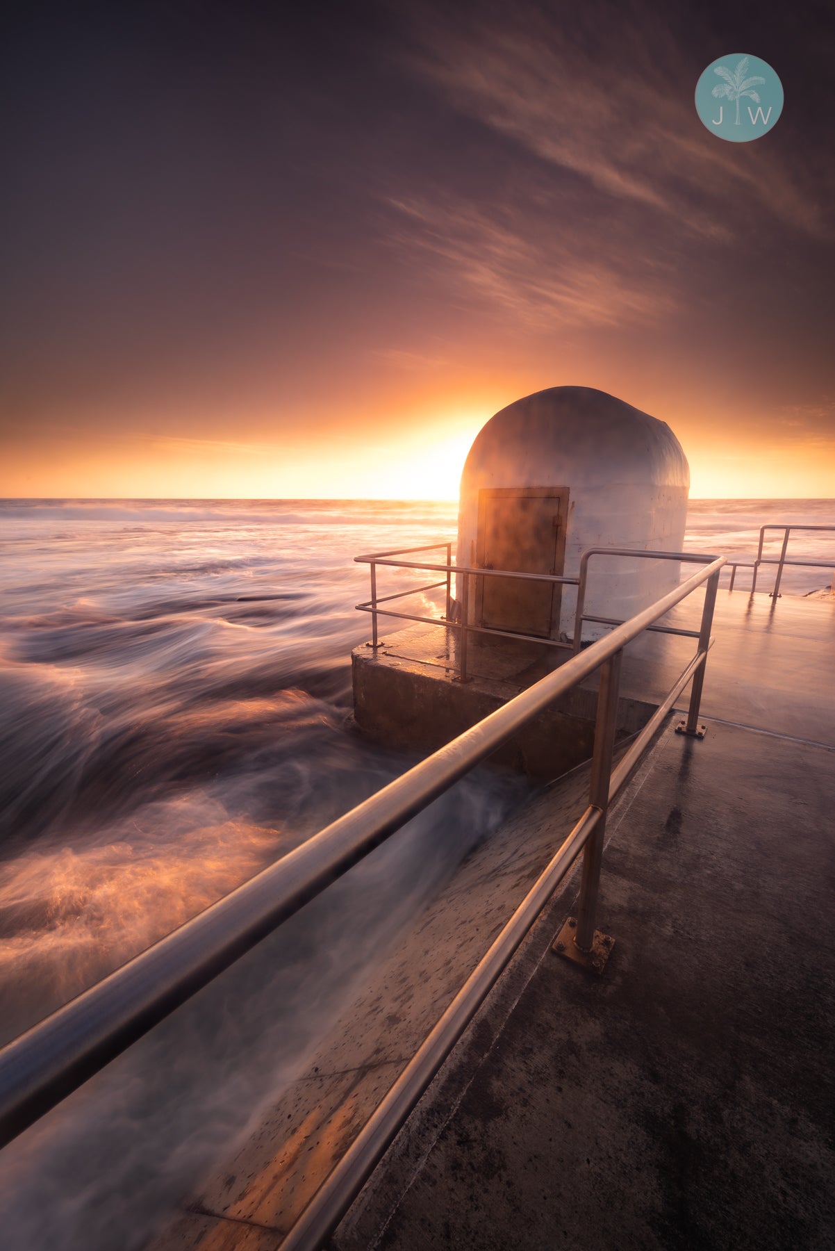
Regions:
[[[605, 638], [571, 657], [561, 668], [421, 761], [276, 864], [4, 1047], [0, 1051], [0, 1146], [232, 965], [555, 699], [601, 668], [589, 806], [282, 1242], [282, 1251], [312, 1251], [319, 1247], [581, 851], [584, 872], [575, 941], [581, 952], [591, 950], [609, 799], [635, 767], [690, 681], [692, 692], [686, 729], [695, 732], [716, 587], [724, 563], [724, 557], [715, 558], [655, 604], [615, 627]], [[704, 583], [708, 588], [698, 651], [612, 771], [622, 649]]]

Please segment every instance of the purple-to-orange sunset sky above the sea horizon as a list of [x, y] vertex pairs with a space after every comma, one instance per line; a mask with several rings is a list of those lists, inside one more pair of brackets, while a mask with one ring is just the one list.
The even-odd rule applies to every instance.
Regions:
[[[6, 6], [0, 494], [455, 498], [546, 387], [835, 497], [828, 4]], [[780, 75], [726, 143], [701, 71]]]

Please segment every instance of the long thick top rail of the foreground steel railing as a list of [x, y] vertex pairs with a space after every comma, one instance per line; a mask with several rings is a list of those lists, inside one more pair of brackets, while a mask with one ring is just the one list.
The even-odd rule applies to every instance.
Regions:
[[[282, 921], [368, 856], [406, 821], [428, 807], [555, 699], [601, 666], [609, 664], [606, 682], [601, 681], [601, 692], [604, 687], [610, 692], [605, 711], [606, 726], [601, 718], [601, 694], [592, 763], [596, 789], [592, 787], [590, 807], [598, 808], [599, 812], [586, 812], [582, 818], [585, 822], [582, 836], [578, 834], [576, 829], [569, 836], [576, 844], [571, 861], [581, 846], [589, 846], [592, 831], [596, 846], [602, 838], [610, 788], [611, 752], [609, 751], [606, 762], [605, 744], [610, 737], [609, 722], [614, 719], [618, 708], [616, 668], [620, 652], [648, 626], [708, 582], [699, 651], [689, 666], [692, 696], [688, 727], [695, 729], [710, 644], [712, 605], [724, 563], [724, 557], [715, 559], [708, 568], [490, 713], [484, 721], [289, 852], [278, 863], [258, 873], [225, 898], [210, 904], [204, 912], [5, 1046], [0, 1051], [0, 1146], [11, 1141], [104, 1068], [152, 1026], [278, 928]], [[688, 671], [680, 681], [689, 681]], [[562, 867], [549, 891], [568, 871], [570, 861], [565, 862], [564, 857], [560, 863]], [[588, 908], [594, 907], [595, 894], [596, 882], [592, 882], [589, 889], [584, 884], [586, 914], [584, 919], [581, 902], [579, 934], [581, 927], [588, 929]], [[510, 952], [501, 958], [498, 967], [495, 967], [495, 955], [491, 957], [486, 988], [499, 976], [518, 941], [520, 940], [511, 945]], [[495, 946], [494, 943], [494, 948]], [[469, 996], [471, 993], [468, 992]], [[478, 1006], [480, 998], [468, 1002], [475, 1002]], [[475, 1007], [471, 1011], [475, 1011]], [[410, 1087], [409, 1098], [412, 1098], [412, 1095], [416, 1098], [419, 1093], [420, 1090]], [[288, 1245], [302, 1243], [292, 1242], [291, 1236]]]

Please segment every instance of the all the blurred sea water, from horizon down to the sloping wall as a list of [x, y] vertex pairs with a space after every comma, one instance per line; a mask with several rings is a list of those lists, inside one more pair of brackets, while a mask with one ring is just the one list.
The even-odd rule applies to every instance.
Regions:
[[[455, 512], [0, 502], [0, 1041], [412, 763], [351, 727], [350, 651], [370, 638], [352, 558], [454, 538]], [[832, 500], [694, 500], [685, 545], [752, 559], [764, 523], [832, 520]], [[790, 555], [835, 557], [835, 534], [796, 534]], [[380, 593], [430, 580], [385, 577]], [[781, 589], [830, 580], [795, 568]], [[141, 1247], [524, 793], [464, 779], [6, 1148], [4, 1245]]]

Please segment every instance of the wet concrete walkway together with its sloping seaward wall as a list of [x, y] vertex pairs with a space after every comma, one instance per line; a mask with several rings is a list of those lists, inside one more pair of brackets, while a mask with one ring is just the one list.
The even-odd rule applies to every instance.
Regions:
[[[679, 614], [698, 620], [699, 604]], [[835, 603], [720, 593], [709, 734], [610, 814], [589, 980], [551, 901], [335, 1235], [375, 1247], [822, 1248], [835, 1228]], [[630, 649], [660, 697], [691, 653]], [[278, 1251], [585, 806], [541, 791], [370, 971], [304, 1072], [154, 1241]]]

